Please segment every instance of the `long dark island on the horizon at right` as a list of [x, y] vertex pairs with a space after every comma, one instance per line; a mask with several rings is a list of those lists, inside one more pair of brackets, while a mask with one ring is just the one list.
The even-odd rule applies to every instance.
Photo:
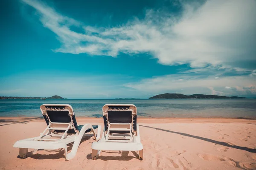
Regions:
[[246, 99], [246, 97], [238, 97], [238, 96], [217, 96], [217, 95], [207, 95], [207, 94], [176, 94], [176, 93], [166, 93], [166, 94], [158, 94], [153, 97], [149, 97], [149, 99]]

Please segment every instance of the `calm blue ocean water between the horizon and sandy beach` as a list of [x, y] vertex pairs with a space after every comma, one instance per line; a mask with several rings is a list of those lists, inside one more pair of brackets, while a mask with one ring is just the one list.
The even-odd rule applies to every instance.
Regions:
[[139, 117], [256, 118], [256, 99], [1, 99], [0, 116], [42, 116], [44, 103], [70, 104], [76, 116], [101, 117], [107, 103], [134, 104]]

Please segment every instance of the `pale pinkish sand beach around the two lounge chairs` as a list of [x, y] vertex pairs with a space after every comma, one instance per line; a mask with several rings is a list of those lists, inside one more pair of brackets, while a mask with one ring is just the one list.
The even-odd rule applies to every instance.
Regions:
[[[102, 118], [77, 118], [79, 125], [102, 125]], [[0, 118], [0, 169], [42, 170], [256, 170], [256, 120], [138, 119], [144, 160], [136, 152], [102, 151], [91, 160], [92, 135], [84, 135], [76, 157], [65, 161], [64, 150], [40, 150], [26, 159], [12, 145], [39, 136], [46, 127], [38, 118]], [[70, 144], [69, 149], [72, 145]]]

